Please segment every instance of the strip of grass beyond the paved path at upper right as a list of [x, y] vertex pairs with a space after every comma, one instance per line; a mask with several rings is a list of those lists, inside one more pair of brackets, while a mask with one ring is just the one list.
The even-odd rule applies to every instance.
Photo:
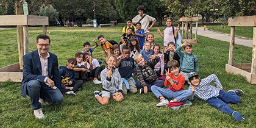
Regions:
[[[230, 34], [230, 26], [220, 26], [220, 25], [215, 25], [215, 26], [207, 26], [208, 29], [216, 30], [218, 32], [222, 32], [225, 34]], [[240, 37], [246, 37], [246, 38], [252, 38], [253, 37], [253, 30], [254, 27], [248, 27], [248, 26], [237, 26], [235, 27], [235, 35], [238, 35]]]

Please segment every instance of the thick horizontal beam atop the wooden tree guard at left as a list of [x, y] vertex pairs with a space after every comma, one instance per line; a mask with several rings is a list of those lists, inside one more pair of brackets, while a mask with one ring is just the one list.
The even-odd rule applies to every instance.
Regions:
[[35, 16], [35, 15], [1, 15], [0, 26], [41, 26], [49, 25], [48, 16]]

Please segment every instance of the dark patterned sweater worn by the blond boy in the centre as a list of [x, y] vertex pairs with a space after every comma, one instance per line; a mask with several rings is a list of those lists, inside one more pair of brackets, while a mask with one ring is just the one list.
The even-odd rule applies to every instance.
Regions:
[[138, 66], [137, 77], [142, 87], [146, 86], [145, 81], [151, 82], [158, 79], [157, 74], [155, 74], [155, 70], [152, 69], [151, 66], [148, 65], [148, 63], [151, 65], [156, 65], [159, 61], [160, 61], [160, 57], [155, 56], [154, 60], [151, 59], [151, 60], [148, 60], [148, 62], [145, 61], [144, 66]]

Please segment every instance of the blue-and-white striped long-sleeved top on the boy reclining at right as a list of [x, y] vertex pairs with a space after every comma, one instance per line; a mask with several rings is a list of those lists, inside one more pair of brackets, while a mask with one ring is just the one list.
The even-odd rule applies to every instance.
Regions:
[[[217, 87], [210, 85], [210, 82], [214, 82]], [[191, 90], [192, 85], [188, 87]], [[218, 77], [215, 74], [201, 80], [200, 84], [197, 87], [194, 87], [194, 96], [197, 98], [207, 101], [207, 99], [219, 96], [219, 89], [222, 88], [221, 82], [219, 82]]]

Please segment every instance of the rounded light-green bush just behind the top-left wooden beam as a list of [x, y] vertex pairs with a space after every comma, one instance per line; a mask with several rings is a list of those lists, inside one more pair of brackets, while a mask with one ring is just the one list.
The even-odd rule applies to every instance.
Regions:
[[38, 14], [40, 16], [48, 16], [49, 17], [49, 21], [57, 21], [59, 18], [59, 14], [57, 12], [56, 9], [54, 9], [54, 7], [52, 7], [52, 5], [42, 5], [40, 7], [40, 10], [38, 12]]

